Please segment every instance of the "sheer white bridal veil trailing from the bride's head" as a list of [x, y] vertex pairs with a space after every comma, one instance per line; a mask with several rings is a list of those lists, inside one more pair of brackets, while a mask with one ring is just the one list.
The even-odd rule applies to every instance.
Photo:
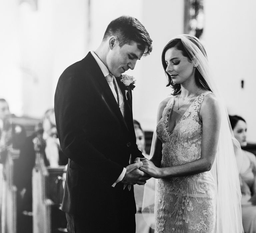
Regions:
[[[215, 94], [221, 111], [220, 136], [215, 162], [211, 168], [216, 184], [216, 226], [214, 232], [242, 233], [244, 231], [241, 214], [241, 190], [238, 177], [240, 168], [237, 166], [237, 164], [241, 164], [241, 162], [236, 162], [236, 159], [239, 160], [242, 157], [240, 144], [234, 138], [223, 98], [214, 84], [214, 78], [209, 69], [207, 55], [200, 41], [194, 36], [185, 34], [172, 39], [181, 39], [188, 54], [191, 55], [191, 60], [197, 65], [198, 71], [207, 82], [211, 91]], [[156, 137], [154, 133], [151, 156], [153, 154]], [[144, 189], [142, 213], [146, 221], [152, 218], [149, 213], [154, 208], [153, 193], [155, 187], [152, 182], [153, 181], [147, 182]]]

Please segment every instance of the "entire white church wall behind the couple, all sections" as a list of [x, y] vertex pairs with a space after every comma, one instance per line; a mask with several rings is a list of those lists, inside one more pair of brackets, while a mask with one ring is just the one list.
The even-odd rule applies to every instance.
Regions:
[[[40, 117], [53, 107], [63, 70], [95, 50], [108, 23], [126, 14], [138, 18], [153, 40], [151, 55], [127, 74], [137, 79], [134, 118], [144, 129], [154, 129], [158, 104], [171, 92], [161, 52], [171, 37], [183, 33], [184, 1], [92, 0], [90, 16], [87, 0], [38, 0], [37, 11], [18, 2], [2, 1], [0, 7], [0, 98], [13, 113]], [[228, 110], [247, 120], [250, 141], [256, 141], [255, 9], [251, 0], [205, 0], [203, 38]]]

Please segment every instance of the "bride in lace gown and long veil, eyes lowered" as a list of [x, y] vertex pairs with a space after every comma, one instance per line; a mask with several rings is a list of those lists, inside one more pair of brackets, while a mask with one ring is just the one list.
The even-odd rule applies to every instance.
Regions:
[[177, 36], [162, 64], [173, 93], [159, 105], [153, 157], [140, 159], [158, 178], [156, 232], [241, 233], [235, 141], [205, 49], [194, 36]]

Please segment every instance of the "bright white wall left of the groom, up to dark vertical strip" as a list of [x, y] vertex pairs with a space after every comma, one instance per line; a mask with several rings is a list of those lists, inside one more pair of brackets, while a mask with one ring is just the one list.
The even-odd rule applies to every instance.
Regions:
[[0, 7], [0, 98], [16, 115], [41, 117], [63, 70], [88, 49], [87, 0], [39, 0], [36, 11], [18, 2]]

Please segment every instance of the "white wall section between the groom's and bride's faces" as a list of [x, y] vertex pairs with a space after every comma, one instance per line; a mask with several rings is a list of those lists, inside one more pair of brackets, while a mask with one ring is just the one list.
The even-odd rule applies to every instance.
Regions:
[[140, 74], [136, 77], [133, 91], [133, 116], [145, 130], [155, 129], [158, 105], [172, 91], [166, 87], [161, 55], [167, 42], [183, 33], [183, 17], [184, 4], [181, 0], [143, 1], [141, 22], [153, 40], [153, 51], [135, 68], [140, 69]]

